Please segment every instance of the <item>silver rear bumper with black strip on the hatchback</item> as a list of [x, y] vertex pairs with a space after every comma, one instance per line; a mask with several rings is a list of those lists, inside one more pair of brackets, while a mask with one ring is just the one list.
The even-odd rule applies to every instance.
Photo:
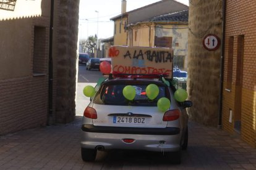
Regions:
[[[87, 127], [87, 128], [85, 128]], [[168, 134], [167, 132], [160, 132], [156, 134], [155, 129], [165, 129], [165, 128], [134, 128], [134, 131], [122, 130], [122, 133], [117, 133], [116, 129], [111, 132], [111, 129], [106, 127], [104, 132], [92, 132], [88, 130], [87, 126], [82, 127], [82, 148], [96, 148], [97, 146], [103, 146], [106, 150], [111, 149], [130, 149], [130, 150], [148, 150], [153, 152], [176, 152], [180, 149], [181, 133], [178, 134]], [[116, 127], [117, 129], [123, 129], [123, 127]], [[98, 127], [96, 127], [99, 131]], [[139, 129], [143, 129], [142, 131]], [[147, 129], [147, 130], [146, 130]], [[148, 130], [152, 132], [148, 132]], [[169, 129], [169, 128], [168, 128]], [[179, 128], [177, 128], [179, 129]], [[83, 131], [85, 130], [85, 131]], [[113, 130], [113, 129], [112, 129]], [[91, 132], [88, 132], [91, 131]], [[95, 129], [94, 129], [95, 131]], [[151, 133], [151, 134], [148, 134]], [[134, 139], [132, 143], [126, 143], [123, 139]]]

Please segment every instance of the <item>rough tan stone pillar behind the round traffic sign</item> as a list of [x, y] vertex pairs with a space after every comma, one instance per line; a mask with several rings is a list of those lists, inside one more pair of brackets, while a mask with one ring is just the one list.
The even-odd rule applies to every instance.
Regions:
[[207, 51], [202, 40], [210, 33], [221, 38], [221, 22], [222, 1], [190, 1], [187, 91], [193, 107], [188, 112], [191, 119], [211, 126], [218, 124], [221, 47]]

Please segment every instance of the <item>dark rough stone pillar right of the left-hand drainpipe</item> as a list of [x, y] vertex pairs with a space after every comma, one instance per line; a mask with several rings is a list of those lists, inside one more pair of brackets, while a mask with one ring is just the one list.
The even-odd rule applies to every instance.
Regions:
[[53, 92], [56, 123], [75, 118], [79, 0], [54, 1]]

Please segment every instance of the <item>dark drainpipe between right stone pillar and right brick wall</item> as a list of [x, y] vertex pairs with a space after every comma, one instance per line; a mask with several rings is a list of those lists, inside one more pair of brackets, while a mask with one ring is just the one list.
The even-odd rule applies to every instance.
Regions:
[[226, 0], [222, 1], [222, 6], [223, 6], [223, 21], [222, 21], [222, 40], [221, 40], [221, 62], [220, 62], [220, 68], [221, 68], [221, 73], [220, 73], [220, 97], [219, 97], [219, 108], [218, 108], [218, 128], [221, 129], [221, 124], [222, 124], [222, 100], [223, 100], [223, 70], [224, 70], [224, 42], [225, 42], [225, 25], [226, 25]]

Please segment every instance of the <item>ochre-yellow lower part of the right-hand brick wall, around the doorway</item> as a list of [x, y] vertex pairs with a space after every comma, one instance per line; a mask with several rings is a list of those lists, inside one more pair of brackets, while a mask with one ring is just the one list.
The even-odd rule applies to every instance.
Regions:
[[[223, 107], [222, 124], [223, 129], [231, 134], [234, 131], [235, 91], [236, 86], [231, 87], [231, 91], [226, 91], [226, 82], [223, 84]], [[256, 147], [256, 91], [242, 88], [242, 109], [241, 109], [241, 137], [247, 143]], [[232, 121], [229, 122], [229, 110], [232, 110]]]

